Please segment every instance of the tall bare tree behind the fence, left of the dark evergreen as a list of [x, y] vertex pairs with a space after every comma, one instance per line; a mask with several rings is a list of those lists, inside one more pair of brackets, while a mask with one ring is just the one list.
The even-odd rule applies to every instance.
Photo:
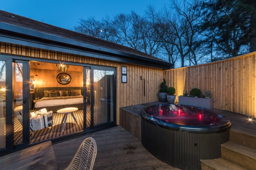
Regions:
[[[190, 3], [187, 0], [180, 3], [173, 0], [171, 6], [164, 7], [164, 12], [155, 23], [155, 29], [165, 46], [169, 44], [169, 49], [179, 52], [182, 67], [185, 66], [186, 60], [190, 65], [191, 63], [197, 64], [203, 57], [196, 55], [200, 47], [200, 27], [198, 26], [200, 14], [201, 8], [198, 0]], [[173, 53], [175, 54], [174, 51]]]

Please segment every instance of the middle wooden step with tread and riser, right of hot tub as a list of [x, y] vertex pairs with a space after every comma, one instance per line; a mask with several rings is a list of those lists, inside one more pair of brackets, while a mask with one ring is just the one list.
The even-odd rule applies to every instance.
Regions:
[[221, 144], [221, 157], [249, 170], [256, 169], [256, 149], [234, 141]]

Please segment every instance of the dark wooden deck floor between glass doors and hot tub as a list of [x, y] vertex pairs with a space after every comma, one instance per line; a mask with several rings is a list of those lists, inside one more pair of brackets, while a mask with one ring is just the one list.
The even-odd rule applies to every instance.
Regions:
[[95, 170], [179, 170], [152, 156], [137, 138], [120, 126], [54, 144], [60, 170], [68, 166], [86, 137], [94, 138], [97, 144]]

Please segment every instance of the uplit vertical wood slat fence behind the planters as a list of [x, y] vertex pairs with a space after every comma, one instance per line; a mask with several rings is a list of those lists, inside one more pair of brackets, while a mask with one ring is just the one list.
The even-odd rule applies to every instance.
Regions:
[[[193, 88], [210, 90], [214, 108], [256, 118], [256, 52], [235, 58], [164, 71], [176, 95]], [[178, 99], [177, 99], [178, 100]], [[176, 101], [178, 102], [178, 101]]]

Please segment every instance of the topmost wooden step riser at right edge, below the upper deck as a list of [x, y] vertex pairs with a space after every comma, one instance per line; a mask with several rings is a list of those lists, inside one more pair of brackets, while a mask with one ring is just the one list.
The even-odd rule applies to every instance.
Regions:
[[256, 135], [241, 133], [236, 130], [229, 131], [229, 140], [256, 149]]

